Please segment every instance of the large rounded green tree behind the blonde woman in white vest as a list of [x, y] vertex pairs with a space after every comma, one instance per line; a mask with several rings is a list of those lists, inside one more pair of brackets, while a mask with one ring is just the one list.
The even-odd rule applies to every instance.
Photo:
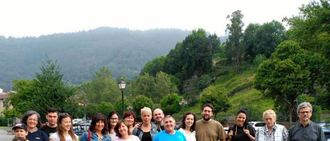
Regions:
[[292, 112], [297, 97], [309, 84], [308, 55], [296, 42], [284, 41], [279, 44], [270, 59], [264, 61], [255, 76], [254, 88], [274, 98], [279, 111]]

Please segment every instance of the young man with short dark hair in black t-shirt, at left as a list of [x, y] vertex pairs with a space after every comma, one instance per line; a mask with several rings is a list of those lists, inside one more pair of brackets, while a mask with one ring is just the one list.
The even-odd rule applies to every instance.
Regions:
[[55, 133], [57, 131], [57, 117], [58, 112], [56, 108], [49, 108], [47, 110], [46, 119], [48, 123], [42, 127], [39, 128], [39, 130], [45, 132], [47, 136], [49, 137], [51, 134]]

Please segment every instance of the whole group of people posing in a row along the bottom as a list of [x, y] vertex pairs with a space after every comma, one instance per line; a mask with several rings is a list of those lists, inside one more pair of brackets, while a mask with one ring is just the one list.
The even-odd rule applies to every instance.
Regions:
[[74, 134], [68, 113], [58, 114], [55, 108], [49, 108], [46, 115], [48, 123], [40, 127], [40, 115], [36, 111], [28, 111], [22, 117], [22, 123], [13, 127], [13, 141], [325, 141], [322, 128], [310, 120], [312, 106], [308, 102], [298, 106], [300, 122], [289, 132], [276, 124], [276, 113], [271, 109], [263, 113], [266, 126], [255, 131], [248, 124], [247, 109], [242, 108], [236, 114], [236, 124], [226, 134], [223, 126], [211, 119], [213, 111], [212, 104], [204, 104], [201, 110], [203, 118], [198, 121], [195, 113], [185, 113], [179, 129], [175, 126], [175, 119], [171, 115], [165, 116], [161, 109], [152, 113], [149, 107], [142, 108], [142, 123], [139, 124], [135, 123], [136, 115], [132, 111], [126, 111], [121, 120], [116, 111], [111, 111], [108, 117], [95, 113], [88, 131], [80, 138]]

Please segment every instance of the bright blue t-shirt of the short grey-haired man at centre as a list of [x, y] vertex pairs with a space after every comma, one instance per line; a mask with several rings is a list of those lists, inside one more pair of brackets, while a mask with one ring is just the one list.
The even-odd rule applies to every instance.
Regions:
[[167, 133], [165, 130], [156, 134], [152, 141], [187, 141], [183, 134], [178, 130], [174, 130], [173, 135]]

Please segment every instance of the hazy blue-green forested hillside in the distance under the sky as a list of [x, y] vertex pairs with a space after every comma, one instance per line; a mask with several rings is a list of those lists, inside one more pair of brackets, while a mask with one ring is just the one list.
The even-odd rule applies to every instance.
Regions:
[[101, 66], [113, 77], [138, 75], [148, 60], [166, 55], [190, 31], [147, 31], [100, 27], [90, 31], [25, 38], [0, 36], [0, 88], [9, 91], [13, 79], [31, 79], [42, 61], [57, 60], [68, 84], [92, 79]]

